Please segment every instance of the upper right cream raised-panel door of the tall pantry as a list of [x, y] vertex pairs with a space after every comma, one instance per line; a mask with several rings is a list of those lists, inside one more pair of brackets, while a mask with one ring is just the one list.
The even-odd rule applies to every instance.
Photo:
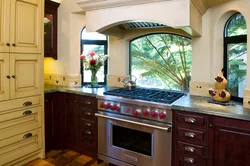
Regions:
[[41, 53], [42, 0], [11, 0], [10, 52]]

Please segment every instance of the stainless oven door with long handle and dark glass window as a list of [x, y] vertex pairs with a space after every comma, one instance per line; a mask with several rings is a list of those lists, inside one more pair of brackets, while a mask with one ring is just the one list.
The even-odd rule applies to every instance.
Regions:
[[119, 166], [171, 166], [171, 125], [113, 113], [98, 117], [98, 158]]

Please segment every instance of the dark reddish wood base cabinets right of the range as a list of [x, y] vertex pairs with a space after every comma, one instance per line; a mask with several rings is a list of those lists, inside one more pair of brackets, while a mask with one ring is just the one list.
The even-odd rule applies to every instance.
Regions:
[[185, 111], [174, 119], [174, 166], [249, 166], [249, 121]]

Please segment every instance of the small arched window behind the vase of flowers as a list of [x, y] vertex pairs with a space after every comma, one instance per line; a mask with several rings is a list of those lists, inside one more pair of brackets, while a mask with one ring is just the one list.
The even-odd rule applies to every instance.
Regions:
[[[81, 52], [94, 51], [99, 55], [107, 54], [107, 37], [97, 32], [86, 32], [84, 27], [81, 32]], [[84, 63], [81, 62], [82, 85], [90, 84], [91, 72], [84, 69]], [[107, 61], [97, 73], [98, 84], [106, 85]]]

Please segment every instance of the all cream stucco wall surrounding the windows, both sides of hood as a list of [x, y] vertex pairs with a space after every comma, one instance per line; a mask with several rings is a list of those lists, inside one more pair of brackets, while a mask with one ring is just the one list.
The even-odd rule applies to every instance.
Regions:
[[[81, 9], [77, 0], [63, 0], [59, 7], [57, 61], [45, 60], [45, 72], [79, 74], [80, 32], [85, 25], [85, 16], [74, 14]], [[235, 12], [244, 15], [250, 27], [250, 1], [232, 0], [210, 8], [202, 17], [202, 37], [193, 38], [192, 94], [206, 96], [214, 77], [223, 67], [223, 30], [228, 18]], [[73, 12], [73, 13], [72, 13]], [[97, 20], [94, 20], [97, 21]], [[123, 39], [109, 39], [109, 75], [128, 74], [128, 41], [143, 32], [127, 33]], [[146, 33], [146, 32], [145, 32]], [[250, 38], [247, 44], [250, 50]], [[250, 64], [250, 58], [248, 58]], [[49, 67], [51, 66], [51, 67]], [[250, 65], [247, 67], [247, 89], [250, 89]], [[202, 88], [197, 88], [202, 85]], [[200, 86], [198, 86], [200, 87]]]

